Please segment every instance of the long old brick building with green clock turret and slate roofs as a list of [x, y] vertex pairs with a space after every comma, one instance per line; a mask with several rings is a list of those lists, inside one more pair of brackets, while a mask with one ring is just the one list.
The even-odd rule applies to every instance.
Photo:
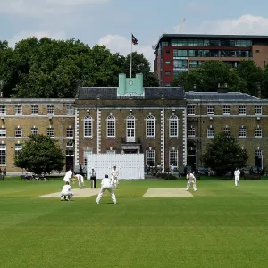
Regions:
[[120, 75], [119, 87], [78, 88], [73, 99], [0, 99], [0, 168], [14, 166], [30, 134], [59, 141], [66, 168], [85, 155], [144, 154], [163, 169], [200, 167], [200, 155], [222, 131], [247, 149], [247, 167], [268, 166], [268, 100], [244, 93], [184, 92], [143, 87], [143, 77]]

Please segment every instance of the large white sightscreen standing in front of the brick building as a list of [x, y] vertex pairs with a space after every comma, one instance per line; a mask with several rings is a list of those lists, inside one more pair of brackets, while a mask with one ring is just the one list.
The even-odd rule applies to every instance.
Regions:
[[119, 180], [144, 179], [144, 155], [143, 154], [87, 154], [87, 177], [94, 168], [96, 179], [105, 178], [105, 174], [111, 178], [111, 171], [116, 165], [119, 170]]

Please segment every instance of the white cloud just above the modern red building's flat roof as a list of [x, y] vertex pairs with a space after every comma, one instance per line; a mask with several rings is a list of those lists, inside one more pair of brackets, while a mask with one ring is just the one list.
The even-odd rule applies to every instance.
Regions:
[[[180, 26], [174, 27], [174, 32], [180, 32]], [[268, 35], [268, 18], [246, 14], [233, 20], [205, 21], [197, 27], [185, 25], [183, 33]]]

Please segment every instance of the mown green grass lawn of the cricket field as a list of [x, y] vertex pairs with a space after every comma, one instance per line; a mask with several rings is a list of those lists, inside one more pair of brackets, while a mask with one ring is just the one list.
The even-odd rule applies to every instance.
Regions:
[[1, 268], [268, 265], [267, 180], [238, 188], [197, 180], [194, 197], [142, 197], [148, 188], [185, 188], [186, 180], [121, 181], [118, 205], [108, 194], [100, 205], [96, 197], [38, 198], [62, 186], [0, 181]]

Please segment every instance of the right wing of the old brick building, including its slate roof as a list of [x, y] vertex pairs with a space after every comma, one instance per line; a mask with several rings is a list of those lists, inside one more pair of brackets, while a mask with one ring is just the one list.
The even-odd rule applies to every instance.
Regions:
[[245, 93], [187, 92], [188, 164], [202, 166], [208, 142], [224, 131], [239, 139], [247, 168], [268, 166], [268, 101]]

